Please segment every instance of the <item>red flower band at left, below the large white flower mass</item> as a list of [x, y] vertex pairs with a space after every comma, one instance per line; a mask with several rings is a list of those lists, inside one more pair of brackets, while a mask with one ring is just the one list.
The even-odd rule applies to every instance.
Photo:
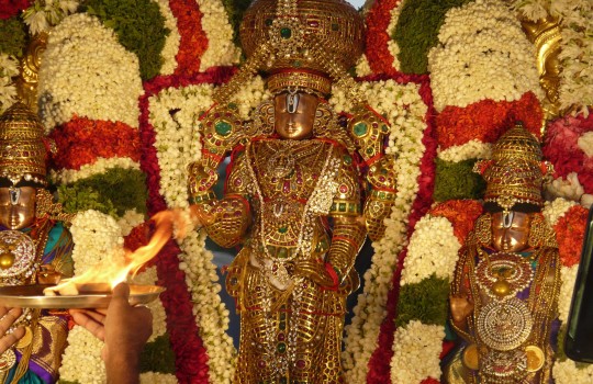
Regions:
[[72, 117], [52, 131], [58, 148], [53, 159], [57, 169], [79, 170], [98, 158], [128, 157], [139, 161], [138, 129], [122, 122]]

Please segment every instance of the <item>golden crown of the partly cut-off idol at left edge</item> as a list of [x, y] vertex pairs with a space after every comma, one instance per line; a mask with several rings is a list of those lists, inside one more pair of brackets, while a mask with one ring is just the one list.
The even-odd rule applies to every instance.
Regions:
[[0, 178], [46, 184], [44, 127], [31, 109], [16, 102], [0, 116]]

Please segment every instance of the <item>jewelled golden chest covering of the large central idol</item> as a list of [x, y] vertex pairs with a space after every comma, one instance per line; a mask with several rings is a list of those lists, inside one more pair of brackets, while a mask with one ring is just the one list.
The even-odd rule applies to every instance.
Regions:
[[[260, 212], [254, 240], [272, 252], [301, 252], [324, 238], [320, 212], [323, 196], [333, 196], [335, 154], [321, 140], [257, 140], [248, 153]], [[326, 202], [331, 206], [329, 201]], [[273, 255], [272, 255], [273, 256]], [[291, 255], [278, 255], [290, 258]]]

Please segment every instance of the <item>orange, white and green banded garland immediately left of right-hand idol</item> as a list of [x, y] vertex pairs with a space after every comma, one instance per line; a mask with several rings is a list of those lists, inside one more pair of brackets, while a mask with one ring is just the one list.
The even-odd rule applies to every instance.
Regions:
[[[440, 377], [439, 355], [448, 313], [443, 303], [447, 303], [458, 251], [481, 213], [482, 206], [475, 201], [449, 201], [435, 206], [416, 224], [402, 271], [395, 320], [400, 326], [395, 330], [391, 361], [393, 383]], [[428, 316], [428, 308], [436, 312]], [[422, 340], [422, 346], [432, 353], [419, 358], [411, 340]]]

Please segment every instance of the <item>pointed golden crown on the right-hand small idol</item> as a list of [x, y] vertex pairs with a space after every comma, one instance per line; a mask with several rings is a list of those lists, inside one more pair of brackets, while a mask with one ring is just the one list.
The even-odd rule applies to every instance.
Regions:
[[505, 211], [517, 203], [542, 205], [545, 165], [536, 137], [518, 123], [494, 144], [492, 160], [477, 163], [486, 181], [484, 201]]

